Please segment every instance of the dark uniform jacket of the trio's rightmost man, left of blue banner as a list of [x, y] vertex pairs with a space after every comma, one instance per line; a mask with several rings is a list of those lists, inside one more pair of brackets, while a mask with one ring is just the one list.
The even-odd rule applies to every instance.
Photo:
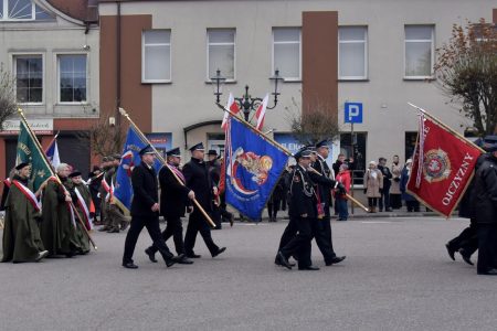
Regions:
[[190, 162], [184, 164], [183, 174], [187, 180], [187, 186], [195, 192], [195, 199], [200, 205], [207, 212], [211, 211], [213, 184], [207, 163], [192, 158]]

